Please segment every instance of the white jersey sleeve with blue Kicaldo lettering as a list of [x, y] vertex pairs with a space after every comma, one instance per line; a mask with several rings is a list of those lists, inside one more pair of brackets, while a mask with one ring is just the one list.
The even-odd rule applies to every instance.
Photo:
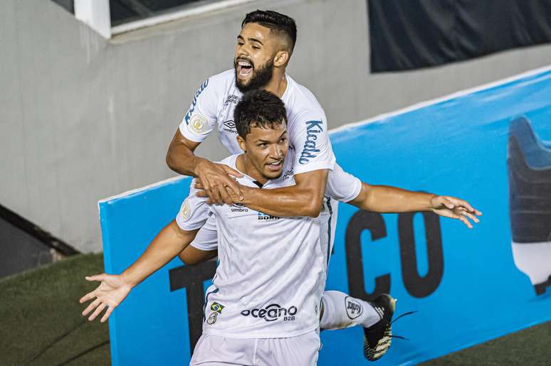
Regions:
[[298, 114], [289, 124], [288, 130], [290, 144], [295, 149], [295, 174], [333, 168], [335, 155], [322, 109]]

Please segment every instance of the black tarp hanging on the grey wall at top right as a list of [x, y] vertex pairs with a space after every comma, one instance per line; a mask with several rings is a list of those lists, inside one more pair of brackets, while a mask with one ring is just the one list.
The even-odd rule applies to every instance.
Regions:
[[551, 42], [551, 0], [367, 3], [372, 72], [426, 68]]

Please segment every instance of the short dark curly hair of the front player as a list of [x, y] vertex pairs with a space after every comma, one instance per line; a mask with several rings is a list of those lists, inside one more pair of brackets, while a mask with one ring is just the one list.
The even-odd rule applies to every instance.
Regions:
[[243, 139], [251, 133], [251, 127], [271, 128], [285, 122], [287, 111], [283, 100], [266, 90], [246, 92], [233, 111], [237, 133]]

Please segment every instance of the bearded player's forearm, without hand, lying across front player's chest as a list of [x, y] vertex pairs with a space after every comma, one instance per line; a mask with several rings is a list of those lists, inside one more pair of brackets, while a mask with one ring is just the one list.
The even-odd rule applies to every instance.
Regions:
[[253, 210], [278, 217], [320, 215], [323, 192], [318, 195], [311, 189], [291, 185], [284, 188], [259, 189], [242, 187], [243, 205]]

